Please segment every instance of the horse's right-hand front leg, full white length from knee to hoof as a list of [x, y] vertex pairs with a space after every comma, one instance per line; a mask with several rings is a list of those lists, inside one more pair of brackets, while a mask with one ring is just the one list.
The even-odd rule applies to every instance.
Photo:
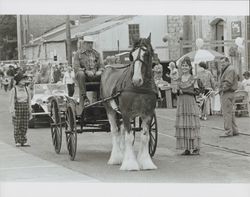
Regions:
[[140, 148], [137, 155], [137, 160], [139, 163], [139, 167], [142, 170], [154, 170], [157, 169], [156, 165], [153, 163], [149, 151], [148, 151], [148, 143], [149, 143], [149, 125], [150, 125], [150, 117], [145, 118], [142, 121], [142, 133], [141, 133], [141, 142]]

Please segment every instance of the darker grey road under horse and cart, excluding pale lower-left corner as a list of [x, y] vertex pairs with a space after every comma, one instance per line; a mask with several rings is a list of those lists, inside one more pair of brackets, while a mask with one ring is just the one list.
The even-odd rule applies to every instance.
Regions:
[[[70, 161], [66, 149], [65, 135], [60, 154], [56, 154], [51, 141], [50, 128], [28, 130], [31, 147], [20, 148], [75, 172], [90, 176], [101, 182], [144, 183], [249, 183], [250, 182], [250, 137], [222, 139], [221, 117], [211, 117], [202, 122], [202, 149], [200, 156], [180, 156], [175, 149], [174, 109], [157, 110], [159, 141], [153, 171], [124, 172], [120, 166], [107, 165], [111, 151], [109, 133], [83, 133], [78, 135], [75, 161]], [[248, 132], [249, 118], [238, 120], [241, 131]], [[137, 148], [139, 135], [135, 142]], [[13, 127], [8, 114], [8, 95], [0, 90], [0, 139], [14, 146]], [[242, 154], [240, 154], [242, 153]], [[8, 161], [5, 161], [8, 162]]]

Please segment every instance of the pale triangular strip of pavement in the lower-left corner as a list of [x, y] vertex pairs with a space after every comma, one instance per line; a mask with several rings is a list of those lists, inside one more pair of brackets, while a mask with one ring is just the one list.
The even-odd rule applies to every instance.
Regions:
[[0, 141], [0, 182], [99, 182]]

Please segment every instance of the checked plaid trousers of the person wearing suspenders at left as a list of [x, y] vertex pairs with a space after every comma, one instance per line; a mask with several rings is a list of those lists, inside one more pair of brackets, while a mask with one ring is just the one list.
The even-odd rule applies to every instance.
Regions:
[[16, 103], [15, 104], [15, 116], [12, 117], [14, 125], [14, 138], [15, 143], [24, 144], [27, 142], [27, 129], [29, 121], [29, 105], [28, 103]]

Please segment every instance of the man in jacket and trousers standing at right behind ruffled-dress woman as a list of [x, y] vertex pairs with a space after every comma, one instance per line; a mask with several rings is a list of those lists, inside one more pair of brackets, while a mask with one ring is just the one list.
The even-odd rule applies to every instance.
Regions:
[[233, 66], [230, 65], [227, 57], [222, 57], [221, 74], [219, 78], [219, 93], [221, 97], [221, 108], [224, 119], [225, 135], [221, 137], [231, 137], [239, 135], [238, 127], [235, 121], [233, 104], [235, 100], [235, 91], [238, 88], [238, 77]]

